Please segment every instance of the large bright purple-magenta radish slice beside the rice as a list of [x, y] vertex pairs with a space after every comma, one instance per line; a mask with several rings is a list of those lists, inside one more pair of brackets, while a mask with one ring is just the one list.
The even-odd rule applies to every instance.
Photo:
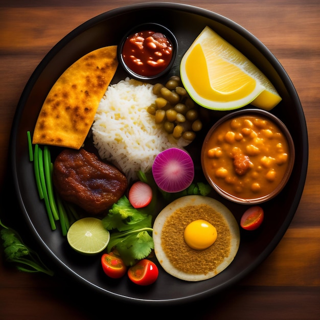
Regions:
[[192, 158], [178, 148], [164, 150], [155, 157], [152, 174], [157, 186], [166, 192], [185, 190], [194, 178]]

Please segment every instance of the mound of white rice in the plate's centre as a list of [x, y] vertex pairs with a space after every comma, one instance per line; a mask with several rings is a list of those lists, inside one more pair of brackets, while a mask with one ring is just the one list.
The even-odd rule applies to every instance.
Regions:
[[93, 140], [100, 157], [129, 180], [139, 170], [151, 170], [158, 153], [177, 147], [147, 111], [155, 99], [151, 84], [126, 78], [108, 87], [95, 116]]

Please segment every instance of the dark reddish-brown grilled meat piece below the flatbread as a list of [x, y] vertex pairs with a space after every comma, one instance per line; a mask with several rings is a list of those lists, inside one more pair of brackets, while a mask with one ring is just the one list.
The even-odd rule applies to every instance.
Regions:
[[55, 159], [53, 184], [62, 199], [97, 215], [122, 197], [128, 181], [119, 169], [94, 153], [65, 149]]

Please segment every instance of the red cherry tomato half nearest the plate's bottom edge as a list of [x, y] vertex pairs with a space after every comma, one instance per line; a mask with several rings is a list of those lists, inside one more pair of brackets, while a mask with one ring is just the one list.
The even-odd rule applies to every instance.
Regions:
[[159, 275], [157, 266], [148, 259], [140, 260], [128, 269], [129, 279], [141, 286], [148, 286], [156, 281]]

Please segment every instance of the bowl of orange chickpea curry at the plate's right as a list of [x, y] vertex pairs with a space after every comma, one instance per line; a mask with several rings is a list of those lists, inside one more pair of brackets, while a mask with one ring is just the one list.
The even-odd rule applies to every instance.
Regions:
[[203, 173], [228, 200], [263, 203], [286, 185], [294, 164], [294, 143], [284, 123], [261, 109], [231, 112], [217, 121], [201, 150]]

